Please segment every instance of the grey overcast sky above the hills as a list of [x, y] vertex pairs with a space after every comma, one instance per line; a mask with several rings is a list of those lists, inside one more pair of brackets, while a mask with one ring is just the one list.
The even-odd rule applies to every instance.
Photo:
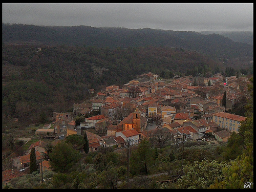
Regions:
[[253, 31], [253, 4], [4, 3], [3, 23], [39, 26]]

